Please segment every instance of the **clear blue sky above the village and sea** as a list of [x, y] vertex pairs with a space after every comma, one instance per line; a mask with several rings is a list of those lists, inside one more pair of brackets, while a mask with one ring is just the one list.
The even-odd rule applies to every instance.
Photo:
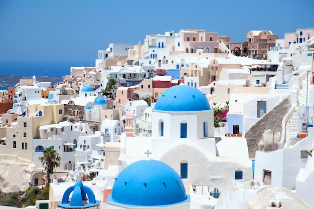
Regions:
[[109, 43], [204, 29], [243, 42], [250, 30], [284, 38], [314, 28], [314, 1], [0, 0], [0, 60], [95, 60]]

